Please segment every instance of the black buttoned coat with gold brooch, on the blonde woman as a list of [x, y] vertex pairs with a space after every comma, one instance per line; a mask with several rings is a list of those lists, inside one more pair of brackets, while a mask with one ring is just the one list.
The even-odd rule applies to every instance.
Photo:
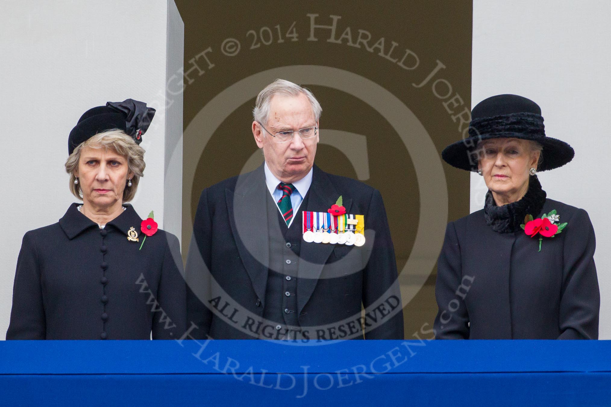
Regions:
[[[185, 332], [178, 239], [147, 237], [131, 205], [104, 229], [71, 204], [23, 237], [6, 339], [173, 339]], [[130, 228], [139, 242], [127, 239]]]

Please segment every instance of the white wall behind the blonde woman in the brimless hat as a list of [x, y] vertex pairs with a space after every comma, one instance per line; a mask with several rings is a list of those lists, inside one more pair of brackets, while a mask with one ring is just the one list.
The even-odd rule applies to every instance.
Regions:
[[[23, 234], [57, 222], [76, 200], [64, 170], [68, 133], [90, 107], [133, 98], [157, 109], [133, 205], [142, 217], [155, 210], [160, 227], [180, 239], [181, 193], [164, 192], [181, 191], [181, 95], [165, 106], [166, 79], [183, 65], [182, 35], [173, 0], [2, 1], [0, 339]], [[174, 148], [178, 165], [169, 159]]]

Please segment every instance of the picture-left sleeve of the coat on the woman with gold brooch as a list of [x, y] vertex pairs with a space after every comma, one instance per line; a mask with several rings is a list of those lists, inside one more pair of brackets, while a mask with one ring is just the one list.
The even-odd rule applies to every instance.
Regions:
[[27, 232], [21, 242], [6, 339], [46, 339], [40, 264], [32, 232]]

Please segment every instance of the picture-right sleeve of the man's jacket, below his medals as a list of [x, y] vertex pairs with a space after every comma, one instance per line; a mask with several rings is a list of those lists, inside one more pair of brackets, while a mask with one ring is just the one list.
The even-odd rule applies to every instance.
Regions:
[[371, 331], [366, 331], [365, 339], [403, 339], [403, 305], [397, 279], [395, 248], [390, 238], [390, 228], [382, 195], [378, 190], [375, 190], [371, 196], [365, 226], [375, 231], [375, 237], [363, 275], [363, 306], [367, 309], [375, 301], [386, 300], [394, 296], [400, 308], [397, 314], [390, 317], [387, 322]]

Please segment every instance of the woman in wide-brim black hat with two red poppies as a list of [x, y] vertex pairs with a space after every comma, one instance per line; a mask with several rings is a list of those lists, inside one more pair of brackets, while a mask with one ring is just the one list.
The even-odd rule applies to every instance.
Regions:
[[483, 176], [484, 209], [448, 223], [437, 262], [438, 339], [598, 339], [595, 236], [587, 212], [546, 198], [537, 171], [573, 159], [541, 109], [485, 99], [448, 164]]

